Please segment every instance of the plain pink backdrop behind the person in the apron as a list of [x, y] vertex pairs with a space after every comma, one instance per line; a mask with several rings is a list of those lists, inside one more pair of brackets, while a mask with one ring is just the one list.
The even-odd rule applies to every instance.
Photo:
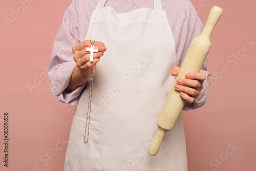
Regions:
[[[203, 24], [212, 6], [220, 6], [224, 13], [211, 37], [212, 84], [207, 102], [183, 113], [188, 170], [255, 170], [256, 46], [246, 43], [246, 39], [256, 41], [255, 2], [192, 2]], [[21, 4], [19, 0], [1, 2], [1, 170], [63, 170], [67, 143], [59, 141], [68, 141], [75, 106], [53, 96], [43, 68], [48, 66], [53, 40], [70, 3], [31, 2], [8, 27], [4, 17], [11, 17], [11, 10]], [[241, 57], [229, 57], [235, 53]], [[36, 84], [31, 92], [28, 83]], [[4, 112], [9, 113], [10, 126], [8, 168], [3, 166]]]

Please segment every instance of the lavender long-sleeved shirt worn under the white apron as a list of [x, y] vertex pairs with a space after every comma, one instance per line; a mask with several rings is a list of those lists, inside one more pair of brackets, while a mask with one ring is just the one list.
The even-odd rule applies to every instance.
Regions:
[[[72, 47], [83, 41], [79, 40], [78, 37], [82, 32], [87, 33], [90, 18], [97, 2], [98, 0], [73, 0], [65, 11], [62, 24], [54, 40], [48, 75], [51, 90], [61, 102], [71, 105], [76, 104], [85, 87], [85, 85], [80, 86], [72, 92], [65, 90], [76, 65], [73, 59]], [[118, 13], [129, 12], [142, 7], [154, 8], [153, 0], [107, 0], [106, 6], [113, 7]], [[181, 66], [191, 41], [201, 34], [203, 25], [194, 6], [188, 0], [162, 0], [162, 7], [166, 11], [170, 29], [174, 36], [176, 66]], [[103, 29], [102, 31], [104, 31]], [[205, 103], [207, 89], [210, 84], [210, 74], [206, 70], [207, 59], [201, 70], [207, 76], [203, 83], [203, 90], [201, 90], [201, 94], [195, 102], [186, 103], [183, 110], [196, 109]]]

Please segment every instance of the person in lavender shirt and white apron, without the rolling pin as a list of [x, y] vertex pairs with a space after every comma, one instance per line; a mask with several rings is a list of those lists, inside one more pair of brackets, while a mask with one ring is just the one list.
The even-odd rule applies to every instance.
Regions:
[[[146, 151], [174, 81], [170, 74], [178, 74], [202, 29], [187, 0], [72, 2], [49, 65], [54, 95], [68, 104], [78, 101], [64, 170], [187, 170], [181, 115], [158, 154]], [[92, 45], [98, 52], [90, 61]], [[205, 103], [206, 69], [207, 60], [201, 73], [177, 80], [187, 101], [183, 110]]]

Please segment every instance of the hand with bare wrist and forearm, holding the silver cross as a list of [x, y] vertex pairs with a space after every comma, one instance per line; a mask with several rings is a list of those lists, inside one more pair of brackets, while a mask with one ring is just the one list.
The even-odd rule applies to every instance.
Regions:
[[72, 72], [72, 76], [69, 85], [66, 90], [73, 91], [79, 86], [85, 84], [91, 77], [91, 68], [93, 67], [93, 75], [96, 73], [96, 63], [100, 60], [100, 57], [104, 55], [106, 47], [103, 42], [95, 41], [94, 49], [98, 49], [98, 52], [93, 53], [93, 61], [90, 61], [90, 53], [86, 48], [91, 48], [90, 40], [85, 40], [77, 44], [72, 48], [74, 53], [74, 60], [76, 66]]

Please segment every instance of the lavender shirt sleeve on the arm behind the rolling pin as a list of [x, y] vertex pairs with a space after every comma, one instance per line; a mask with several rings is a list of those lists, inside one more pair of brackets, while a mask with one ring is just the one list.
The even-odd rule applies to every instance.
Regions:
[[[181, 58], [178, 61], [179, 67], [181, 66], [181, 64], [186, 56], [186, 53], [188, 51], [188, 48], [189, 48], [193, 38], [199, 36], [203, 30], [202, 22], [201, 22], [199, 16], [197, 15], [197, 12], [192, 4], [190, 6], [190, 14], [191, 15], [195, 14], [195, 15], [194, 15], [194, 17], [190, 18], [189, 23], [188, 23], [187, 36], [186, 36], [186, 40], [185, 40], [184, 50], [182, 51]], [[204, 105], [206, 102], [207, 91], [208, 91], [208, 87], [210, 84], [210, 73], [207, 71], [207, 62], [208, 62], [208, 56], [207, 56], [207, 58], [203, 64], [203, 67], [200, 71], [201, 73], [206, 74], [206, 79], [203, 82], [203, 89], [201, 90], [200, 95], [195, 99], [195, 101], [193, 103], [185, 103], [184, 108], [183, 108], [184, 111], [187, 111], [190, 109], [197, 109], [197, 108], [201, 107], [202, 105]]]

